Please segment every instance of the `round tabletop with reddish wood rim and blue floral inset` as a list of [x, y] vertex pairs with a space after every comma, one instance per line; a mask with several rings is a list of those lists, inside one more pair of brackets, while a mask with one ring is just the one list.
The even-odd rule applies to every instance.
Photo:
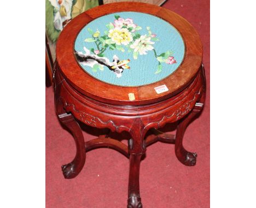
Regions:
[[62, 30], [56, 59], [80, 93], [117, 105], [153, 103], [193, 81], [202, 44], [183, 17], [152, 4], [101, 5]]

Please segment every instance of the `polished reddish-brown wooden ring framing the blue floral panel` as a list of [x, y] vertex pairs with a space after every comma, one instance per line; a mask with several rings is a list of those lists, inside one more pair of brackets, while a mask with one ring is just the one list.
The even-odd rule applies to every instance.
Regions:
[[[137, 11], [160, 17], [182, 35], [185, 56], [179, 68], [159, 82], [139, 87], [121, 87], [99, 81], [80, 68], [74, 57], [74, 42], [80, 30], [92, 20], [111, 13]], [[195, 78], [202, 62], [202, 43], [196, 30], [183, 17], [170, 10], [146, 3], [112, 3], [92, 8], [75, 17], [62, 30], [56, 45], [56, 59], [62, 76], [80, 93], [115, 105], [144, 105], [165, 100], [186, 88]], [[168, 91], [157, 94], [155, 87], [166, 85]], [[129, 93], [135, 100], [129, 100]]]

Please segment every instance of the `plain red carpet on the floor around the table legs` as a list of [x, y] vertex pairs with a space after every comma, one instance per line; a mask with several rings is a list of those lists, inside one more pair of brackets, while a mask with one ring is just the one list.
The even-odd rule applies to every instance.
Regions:
[[[210, 1], [171, 0], [163, 7], [187, 19], [201, 36], [207, 96], [201, 117], [188, 126], [184, 136], [185, 148], [197, 152], [196, 166], [181, 164], [172, 144], [149, 146], [141, 162], [142, 203], [144, 208], [206, 208], [210, 207]], [[126, 207], [129, 160], [115, 150], [102, 148], [88, 152], [85, 167], [77, 178], [63, 178], [61, 165], [72, 161], [75, 145], [55, 115], [53, 88], [45, 90], [46, 207]], [[99, 134], [88, 126], [84, 130], [85, 140]]]

